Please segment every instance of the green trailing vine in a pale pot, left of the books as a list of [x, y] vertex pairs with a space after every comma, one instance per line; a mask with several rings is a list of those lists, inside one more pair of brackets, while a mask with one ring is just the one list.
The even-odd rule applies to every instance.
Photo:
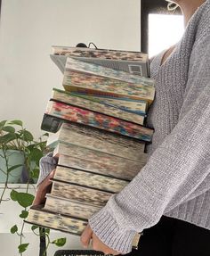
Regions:
[[[19, 253], [22, 255], [28, 248], [29, 243], [23, 243], [24, 220], [28, 217], [28, 207], [32, 205], [34, 195], [28, 193], [28, 186], [35, 183], [39, 174], [39, 160], [47, 153], [46, 139], [44, 134], [38, 141], [26, 128], [24, 128], [21, 120], [2, 120], [0, 121], [0, 183], [4, 184], [0, 194], [0, 205], [4, 202], [4, 193], [6, 189], [10, 189], [11, 183], [25, 183], [25, 192], [18, 192], [12, 189], [10, 199], [13, 202], [18, 202], [22, 207], [20, 219], [22, 219], [21, 227], [13, 225], [11, 233], [20, 236]], [[62, 246], [66, 243], [66, 238], [50, 241], [49, 228], [39, 228], [41, 232], [36, 232], [38, 227], [32, 226], [31, 230], [35, 235], [44, 236], [47, 238], [46, 249], [49, 244]], [[43, 255], [46, 255], [46, 250]]]

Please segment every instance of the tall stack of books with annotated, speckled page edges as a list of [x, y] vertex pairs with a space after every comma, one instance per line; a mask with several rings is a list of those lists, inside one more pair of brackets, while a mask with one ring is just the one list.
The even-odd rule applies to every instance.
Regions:
[[146, 163], [154, 80], [148, 78], [147, 54], [58, 46], [54, 51], [52, 60], [60, 69], [65, 64], [65, 90], [52, 89], [41, 127], [54, 133], [48, 146], [58, 165], [51, 193], [44, 205], [29, 210], [27, 222], [81, 235], [87, 219]]

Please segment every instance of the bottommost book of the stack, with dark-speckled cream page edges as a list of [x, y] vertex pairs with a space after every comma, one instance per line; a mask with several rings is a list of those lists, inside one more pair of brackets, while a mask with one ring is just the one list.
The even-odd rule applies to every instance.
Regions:
[[25, 222], [41, 227], [49, 227], [72, 235], [81, 235], [87, 219], [79, 219], [61, 213], [44, 210], [43, 205], [30, 207]]

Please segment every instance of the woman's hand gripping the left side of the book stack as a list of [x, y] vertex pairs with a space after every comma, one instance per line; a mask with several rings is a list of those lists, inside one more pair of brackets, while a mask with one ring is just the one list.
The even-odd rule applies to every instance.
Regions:
[[44, 178], [44, 180], [39, 184], [39, 186], [37, 186], [35, 199], [32, 205], [44, 203], [45, 194], [50, 192], [52, 186], [52, 181], [50, 179], [53, 178], [54, 171], [55, 169], [53, 169], [52, 172], [46, 178]]

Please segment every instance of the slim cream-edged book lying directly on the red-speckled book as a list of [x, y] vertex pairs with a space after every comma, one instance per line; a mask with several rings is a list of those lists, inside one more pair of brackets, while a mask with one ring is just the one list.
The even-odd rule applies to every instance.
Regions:
[[51, 99], [56, 102], [69, 103], [71, 105], [85, 108], [90, 111], [101, 112], [103, 114], [119, 118], [121, 120], [132, 121], [140, 125], [143, 125], [144, 123], [143, 115], [124, 111], [106, 103], [91, 101], [90, 99], [86, 99], [83, 95], [73, 95], [60, 89], [52, 89]]

